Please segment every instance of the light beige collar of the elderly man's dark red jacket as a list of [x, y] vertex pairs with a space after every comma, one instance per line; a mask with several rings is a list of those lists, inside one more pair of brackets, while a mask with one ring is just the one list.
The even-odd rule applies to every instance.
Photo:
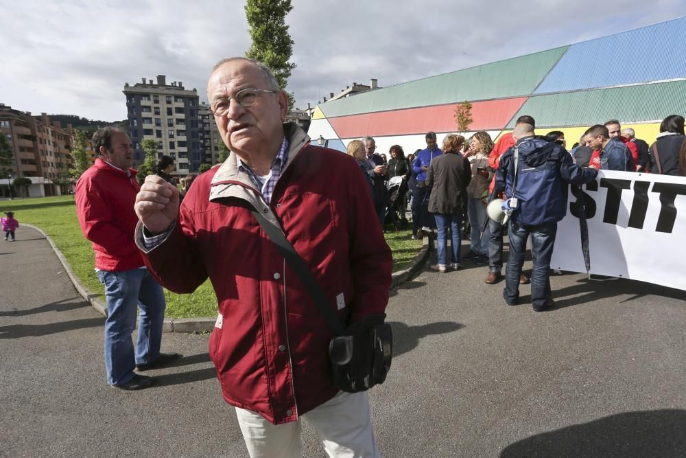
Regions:
[[[292, 122], [285, 122], [283, 124], [283, 135], [288, 140], [288, 160], [283, 168], [283, 173], [289, 167], [296, 157], [296, 154], [309, 144], [309, 137], [303, 129]], [[220, 165], [217, 172], [212, 177], [210, 183], [210, 201], [215, 201], [220, 198], [237, 197], [248, 201], [256, 209], [268, 208], [262, 198], [261, 192], [255, 187], [250, 175], [246, 172], [241, 172], [238, 169], [238, 163], [234, 156], [235, 153], [230, 152], [226, 161]]]

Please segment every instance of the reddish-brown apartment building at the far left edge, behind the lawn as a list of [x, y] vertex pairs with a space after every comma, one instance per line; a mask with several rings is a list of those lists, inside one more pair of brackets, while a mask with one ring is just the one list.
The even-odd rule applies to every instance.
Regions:
[[[71, 124], [62, 128], [60, 122], [51, 122], [46, 113], [32, 116], [0, 104], [0, 132], [12, 146], [12, 177], [25, 176], [32, 181], [29, 196], [59, 196], [71, 190], [71, 184], [64, 183], [65, 172], [73, 165]], [[6, 180], [0, 181], [0, 193], [9, 194]]]

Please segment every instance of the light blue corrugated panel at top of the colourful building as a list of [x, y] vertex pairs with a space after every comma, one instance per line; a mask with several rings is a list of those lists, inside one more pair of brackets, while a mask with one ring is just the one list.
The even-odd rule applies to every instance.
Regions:
[[686, 78], [684, 49], [686, 17], [571, 45], [534, 93]]

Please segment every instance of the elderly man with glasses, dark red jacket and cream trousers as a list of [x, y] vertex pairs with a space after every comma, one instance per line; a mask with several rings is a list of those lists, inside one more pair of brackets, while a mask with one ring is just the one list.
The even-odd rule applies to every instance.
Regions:
[[180, 210], [178, 191], [147, 177], [136, 204], [145, 262], [177, 293], [211, 280], [209, 353], [250, 456], [299, 456], [300, 417], [330, 456], [378, 456], [367, 393], [333, 386], [331, 331], [251, 213], [281, 227], [331, 309], [354, 322], [383, 313], [391, 280], [368, 184], [352, 157], [284, 124], [287, 94], [259, 62], [220, 61], [207, 92], [230, 154], [198, 176]]

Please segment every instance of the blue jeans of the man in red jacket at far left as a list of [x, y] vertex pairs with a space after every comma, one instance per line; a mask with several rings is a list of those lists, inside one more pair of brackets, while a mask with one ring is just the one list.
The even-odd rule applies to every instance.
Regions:
[[[98, 271], [105, 287], [107, 319], [105, 320], [105, 368], [107, 382], [121, 385], [134, 376], [137, 364], [154, 362], [160, 356], [162, 325], [165, 319], [165, 295], [162, 286], [147, 268], [130, 271]], [[131, 334], [136, 327], [138, 342], [134, 356]]]

